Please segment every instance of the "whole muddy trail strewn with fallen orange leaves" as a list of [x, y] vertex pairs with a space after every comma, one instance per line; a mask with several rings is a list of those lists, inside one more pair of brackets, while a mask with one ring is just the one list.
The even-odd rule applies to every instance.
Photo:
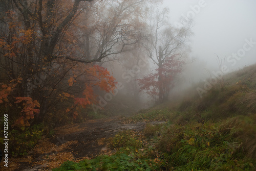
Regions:
[[55, 129], [53, 137], [40, 140], [28, 156], [10, 159], [8, 170], [51, 170], [67, 160], [78, 162], [97, 155], [109, 155], [114, 151], [108, 148], [106, 139], [123, 130], [141, 131], [145, 125], [145, 122], [125, 124], [123, 118], [114, 117], [63, 126]]

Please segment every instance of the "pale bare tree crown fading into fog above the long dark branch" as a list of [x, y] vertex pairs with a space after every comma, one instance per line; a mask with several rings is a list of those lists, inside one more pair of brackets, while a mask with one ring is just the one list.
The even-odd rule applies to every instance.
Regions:
[[94, 3], [93, 10], [83, 15], [87, 19], [84, 29], [79, 33], [83, 51], [81, 58], [97, 62], [109, 61], [117, 54], [134, 50], [145, 39], [146, 25], [142, 13], [148, 2], [159, 1], [112, 0]]

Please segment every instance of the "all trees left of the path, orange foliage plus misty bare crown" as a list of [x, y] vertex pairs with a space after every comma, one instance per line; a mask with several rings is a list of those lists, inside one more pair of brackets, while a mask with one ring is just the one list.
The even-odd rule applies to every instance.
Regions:
[[144, 39], [148, 2], [158, 0], [0, 1], [0, 112], [20, 154], [36, 143], [22, 139], [83, 121], [97, 94], [114, 92], [102, 63]]

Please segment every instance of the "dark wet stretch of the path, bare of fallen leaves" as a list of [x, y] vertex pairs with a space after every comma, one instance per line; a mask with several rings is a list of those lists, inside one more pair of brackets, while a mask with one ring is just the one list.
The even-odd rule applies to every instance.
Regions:
[[[72, 141], [77, 140], [76, 146], [72, 146], [75, 158], [84, 156], [93, 157], [100, 154], [102, 148], [105, 148], [105, 143], [102, 139], [114, 136], [117, 132], [123, 130], [136, 130], [140, 131], [144, 128], [145, 123], [137, 124], [122, 124], [118, 118], [109, 120], [93, 120], [88, 123], [80, 124], [78, 129], [80, 131], [70, 134], [57, 134], [60, 137], [53, 139], [52, 142], [59, 144], [61, 140]], [[101, 142], [99, 142], [101, 141]]]

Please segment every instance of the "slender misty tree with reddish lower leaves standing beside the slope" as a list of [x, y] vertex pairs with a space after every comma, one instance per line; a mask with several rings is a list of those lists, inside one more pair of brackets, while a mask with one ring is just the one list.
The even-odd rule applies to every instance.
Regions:
[[150, 30], [144, 48], [156, 69], [139, 79], [140, 90], [144, 90], [158, 103], [167, 100], [174, 86], [174, 78], [182, 71], [184, 54], [189, 51], [187, 42], [192, 34], [190, 23], [175, 28], [169, 24], [167, 14], [168, 9], [165, 8], [149, 15]]

